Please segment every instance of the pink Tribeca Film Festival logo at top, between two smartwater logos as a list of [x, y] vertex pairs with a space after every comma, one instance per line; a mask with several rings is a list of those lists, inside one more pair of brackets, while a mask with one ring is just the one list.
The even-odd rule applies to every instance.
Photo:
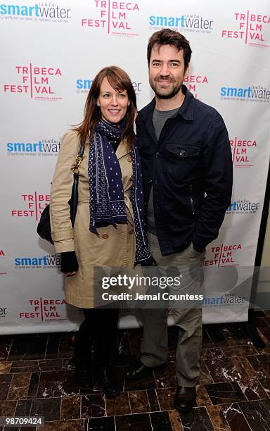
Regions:
[[94, 14], [81, 19], [82, 27], [100, 27], [108, 34], [139, 36], [134, 29], [131, 17], [139, 12], [135, 1], [92, 0]]

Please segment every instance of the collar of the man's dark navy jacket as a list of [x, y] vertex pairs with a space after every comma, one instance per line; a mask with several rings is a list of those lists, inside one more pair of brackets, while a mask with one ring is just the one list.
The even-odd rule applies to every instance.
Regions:
[[[194, 96], [193, 94], [186, 88], [186, 85], [182, 85], [182, 92], [185, 95], [184, 102], [180, 106], [179, 111], [173, 115], [176, 117], [176, 115], [181, 115], [181, 117], [184, 118], [184, 120], [194, 120]], [[139, 115], [140, 118], [148, 125], [150, 135], [155, 136], [155, 130], [153, 128], [153, 111], [155, 109], [155, 97], [152, 101], [150, 101], [150, 104], [148, 104], [145, 108], [143, 108]], [[150, 123], [152, 123], [152, 127], [150, 127]], [[155, 138], [156, 140], [156, 138]]]

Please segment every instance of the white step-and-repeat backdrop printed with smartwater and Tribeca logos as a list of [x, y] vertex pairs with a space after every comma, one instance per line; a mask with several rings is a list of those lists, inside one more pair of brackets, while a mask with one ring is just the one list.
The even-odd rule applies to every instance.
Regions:
[[[247, 319], [269, 165], [270, 5], [267, 0], [8, 0], [1, 25], [0, 333], [75, 330], [60, 258], [39, 239], [60, 139], [82, 120], [105, 65], [129, 73], [139, 108], [148, 85], [148, 37], [162, 27], [191, 42], [186, 86], [217, 108], [229, 130], [234, 189], [207, 248], [205, 323]], [[121, 325], [132, 325], [126, 313]]]

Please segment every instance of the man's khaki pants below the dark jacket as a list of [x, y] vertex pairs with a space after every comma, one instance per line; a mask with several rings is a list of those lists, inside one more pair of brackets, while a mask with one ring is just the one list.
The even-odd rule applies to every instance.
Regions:
[[[160, 275], [171, 275], [173, 267], [181, 274], [181, 286], [170, 287], [170, 293], [195, 294], [200, 292], [203, 284], [203, 260], [205, 252], [198, 253], [193, 245], [181, 253], [162, 256], [158, 237], [148, 236], [150, 251], [158, 265]], [[200, 375], [200, 351], [202, 347], [202, 308], [198, 301], [192, 302], [184, 308], [177, 308], [174, 301], [172, 316], [179, 327], [179, 337], [176, 347], [176, 377], [178, 384], [193, 387], [198, 383]], [[169, 304], [168, 304], [169, 305]], [[143, 342], [141, 344], [141, 362], [148, 367], [158, 366], [167, 361], [167, 310], [164, 308], [145, 308], [138, 310], [143, 323]]]

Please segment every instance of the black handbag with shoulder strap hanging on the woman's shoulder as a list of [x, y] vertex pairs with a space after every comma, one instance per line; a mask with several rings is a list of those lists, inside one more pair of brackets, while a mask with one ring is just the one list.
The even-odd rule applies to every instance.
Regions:
[[[79, 143], [78, 154], [76, 157], [76, 164], [73, 168], [73, 185], [72, 185], [72, 193], [71, 198], [68, 201], [70, 205], [70, 220], [72, 227], [75, 223], [75, 217], [77, 213], [78, 206], [78, 184], [79, 184], [79, 165], [82, 163], [82, 159], [84, 156], [84, 146], [82, 142]], [[46, 239], [46, 241], [51, 242], [53, 244], [53, 239], [51, 238], [51, 223], [50, 223], [50, 206], [47, 205], [41, 213], [41, 217], [39, 220], [39, 224], [37, 225], [37, 233], [39, 237], [42, 239]]]

